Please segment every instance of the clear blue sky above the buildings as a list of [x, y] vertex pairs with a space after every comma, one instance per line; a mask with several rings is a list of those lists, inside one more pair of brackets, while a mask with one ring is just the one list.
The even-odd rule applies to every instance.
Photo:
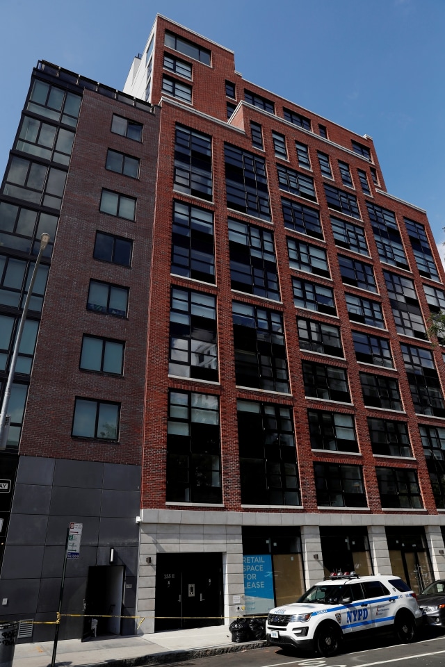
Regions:
[[122, 90], [161, 13], [235, 51], [245, 79], [373, 137], [391, 194], [445, 254], [444, 0], [0, 0], [0, 173], [42, 58]]

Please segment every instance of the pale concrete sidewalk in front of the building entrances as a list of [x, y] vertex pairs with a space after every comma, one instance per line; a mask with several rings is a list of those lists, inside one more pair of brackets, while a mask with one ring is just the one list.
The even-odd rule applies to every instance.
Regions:
[[[188, 630], [170, 630], [129, 637], [97, 638], [81, 642], [58, 642], [56, 665], [81, 667], [138, 667], [189, 660], [221, 653], [261, 648], [265, 641], [232, 642], [229, 627], [217, 625]], [[17, 644], [13, 667], [47, 667], [51, 663], [53, 643]]]

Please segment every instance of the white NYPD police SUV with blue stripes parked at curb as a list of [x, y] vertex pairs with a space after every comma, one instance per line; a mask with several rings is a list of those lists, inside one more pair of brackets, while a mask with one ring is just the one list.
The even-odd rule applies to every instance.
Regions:
[[266, 639], [327, 657], [357, 632], [393, 631], [399, 641], [413, 641], [421, 623], [416, 595], [402, 579], [340, 574], [318, 582], [298, 602], [271, 609]]

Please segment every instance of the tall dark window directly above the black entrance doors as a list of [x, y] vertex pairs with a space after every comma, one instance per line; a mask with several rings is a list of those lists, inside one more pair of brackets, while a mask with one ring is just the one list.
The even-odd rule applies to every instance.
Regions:
[[223, 501], [218, 396], [170, 390], [166, 477], [167, 501]]

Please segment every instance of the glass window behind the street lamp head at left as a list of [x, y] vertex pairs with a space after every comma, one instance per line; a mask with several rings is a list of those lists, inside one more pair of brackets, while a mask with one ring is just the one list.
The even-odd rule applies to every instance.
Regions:
[[50, 213], [38, 213], [31, 208], [0, 201], [0, 245], [3, 248], [22, 250], [37, 255], [40, 236], [49, 233], [49, 244], [43, 257], [51, 257], [56, 238], [58, 217]]

